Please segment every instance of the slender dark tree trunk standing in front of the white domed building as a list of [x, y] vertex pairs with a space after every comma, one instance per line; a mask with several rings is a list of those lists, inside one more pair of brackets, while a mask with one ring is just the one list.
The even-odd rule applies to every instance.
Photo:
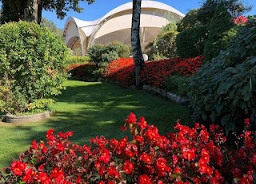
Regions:
[[133, 0], [133, 17], [131, 25], [131, 49], [134, 58], [135, 66], [135, 84], [136, 88], [142, 88], [141, 81], [139, 80], [139, 75], [144, 69], [144, 59], [142, 56], [142, 47], [139, 36], [139, 27], [141, 19], [141, 5], [142, 0]]

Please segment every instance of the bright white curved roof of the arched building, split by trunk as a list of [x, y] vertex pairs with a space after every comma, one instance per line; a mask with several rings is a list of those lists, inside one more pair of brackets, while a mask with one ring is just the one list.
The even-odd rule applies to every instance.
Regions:
[[[142, 1], [142, 9], [143, 8], [154, 8], [154, 9], [158, 9], [158, 10], [166, 10], [166, 11], [170, 11], [173, 12], [174, 14], [177, 14], [178, 17], [184, 17], [185, 15], [182, 14], [180, 11], [174, 9], [171, 6], [168, 6], [162, 2], [155, 2], [155, 1], [150, 1], [150, 0], [146, 0], [146, 1]], [[110, 16], [117, 14], [119, 12], [125, 11], [125, 10], [131, 10], [133, 8], [133, 2], [127, 2], [126, 4], [123, 4], [121, 6], [118, 6], [117, 8], [110, 10], [109, 13], [107, 13], [106, 15], [104, 15], [102, 18], [98, 18], [97, 20], [88, 22], [88, 21], [82, 21], [78, 18], [74, 18], [74, 17], [69, 17], [66, 20], [66, 24], [64, 26], [64, 36], [66, 34], [66, 29], [67, 29], [67, 25], [69, 24], [69, 22], [74, 22], [75, 25], [77, 25], [79, 28], [81, 28], [83, 30], [83, 32], [86, 34], [86, 37], [89, 37], [93, 32], [94, 32], [94, 28], [96, 25], [98, 25], [100, 22], [104, 21], [106, 18], [109, 18]]]

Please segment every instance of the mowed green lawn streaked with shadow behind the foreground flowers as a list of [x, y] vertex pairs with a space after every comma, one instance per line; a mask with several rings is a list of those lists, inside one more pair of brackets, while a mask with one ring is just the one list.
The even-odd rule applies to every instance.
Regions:
[[104, 135], [107, 139], [122, 138], [124, 119], [134, 112], [158, 127], [160, 134], [173, 131], [176, 119], [190, 123], [190, 110], [181, 104], [154, 96], [143, 90], [122, 88], [110, 83], [86, 83], [67, 80], [66, 90], [52, 105], [54, 115], [39, 123], [0, 123], [0, 168], [8, 166], [30, 143], [45, 140], [46, 131], [74, 131], [70, 139], [79, 145], [90, 138]]

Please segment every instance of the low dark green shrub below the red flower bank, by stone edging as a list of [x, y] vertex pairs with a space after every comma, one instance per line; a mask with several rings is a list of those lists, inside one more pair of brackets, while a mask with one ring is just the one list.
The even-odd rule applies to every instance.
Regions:
[[165, 88], [178, 96], [187, 96], [190, 92], [190, 76], [169, 76], [166, 79]]

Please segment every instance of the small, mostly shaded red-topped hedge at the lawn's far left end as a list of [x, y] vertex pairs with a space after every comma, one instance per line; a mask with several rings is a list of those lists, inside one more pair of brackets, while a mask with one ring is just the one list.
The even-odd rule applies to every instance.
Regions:
[[94, 63], [73, 64], [66, 67], [66, 72], [70, 73], [70, 77], [74, 79], [89, 79], [94, 77], [94, 71], [97, 66]]

